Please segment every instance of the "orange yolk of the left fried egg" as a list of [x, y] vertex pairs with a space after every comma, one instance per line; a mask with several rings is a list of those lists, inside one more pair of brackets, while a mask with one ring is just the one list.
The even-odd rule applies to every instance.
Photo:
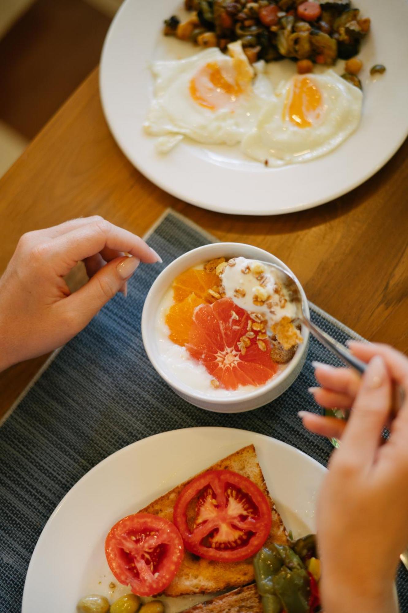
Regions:
[[190, 96], [202, 107], [221, 109], [235, 102], [247, 85], [247, 77], [241, 74], [240, 62], [220, 67], [209, 62], [190, 81]]

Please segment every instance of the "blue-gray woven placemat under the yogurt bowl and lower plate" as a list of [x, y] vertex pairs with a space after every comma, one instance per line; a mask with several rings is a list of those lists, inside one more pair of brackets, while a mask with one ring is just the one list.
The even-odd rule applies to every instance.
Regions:
[[[243, 428], [274, 436], [326, 464], [333, 449], [306, 432], [300, 409], [317, 410], [308, 393], [312, 360], [336, 364], [311, 339], [297, 381], [273, 403], [249, 413], [209, 413], [179, 398], [143, 349], [140, 317], [149, 287], [165, 265], [210, 242], [168, 213], [148, 239], [162, 265], [141, 265], [129, 295], [117, 295], [51, 362], [0, 428], [0, 613], [21, 611], [32, 550], [59, 500], [100, 460], [129, 443], [194, 426]], [[312, 319], [344, 342], [351, 330], [311, 305]], [[408, 574], [399, 569], [401, 612], [408, 613]], [[40, 613], [40, 612], [36, 612]]]

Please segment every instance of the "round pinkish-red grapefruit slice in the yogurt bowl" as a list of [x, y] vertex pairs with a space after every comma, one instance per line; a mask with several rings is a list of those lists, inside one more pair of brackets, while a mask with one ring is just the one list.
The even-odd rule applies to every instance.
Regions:
[[222, 298], [212, 305], [202, 304], [193, 314], [186, 349], [203, 364], [206, 370], [225, 389], [238, 386], [260, 386], [278, 370], [271, 359], [271, 345], [266, 338], [258, 345], [256, 334], [246, 337], [243, 349], [241, 338], [246, 335], [249, 314], [230, 298]]

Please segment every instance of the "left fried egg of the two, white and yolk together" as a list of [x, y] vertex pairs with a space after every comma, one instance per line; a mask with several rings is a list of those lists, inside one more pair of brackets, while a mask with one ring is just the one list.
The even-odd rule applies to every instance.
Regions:
[[273, 98], [268, 78], [249, 64], [241, 42], [229, 55], [209, 48], [190, 58], [153, 64], [154, 100], [145, 122], [148, 134], [170, 150], [184, 136], [200, 143], [235, 145], [250, 132]]

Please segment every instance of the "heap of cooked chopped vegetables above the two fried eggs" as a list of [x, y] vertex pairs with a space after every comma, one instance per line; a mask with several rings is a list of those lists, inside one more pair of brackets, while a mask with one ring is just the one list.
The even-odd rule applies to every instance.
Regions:
[[357, 55], [370, 28], [350, 0], [185, 0], [185, 6], [193, 20], [170, 17], [166, 36], [223, 51], [242, 40], [252, 63], [284, 57], [331, 66]]

